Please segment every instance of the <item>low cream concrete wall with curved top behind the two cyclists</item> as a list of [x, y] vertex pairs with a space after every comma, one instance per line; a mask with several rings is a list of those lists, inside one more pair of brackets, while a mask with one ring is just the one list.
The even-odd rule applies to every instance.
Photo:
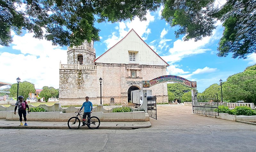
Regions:
[[[18, 120], [19, 115], [14, 114], [14, 107], [15, 105], [11, 105], [10, 107], [4, 107], [4, 109], [3, 106], [0, 106], [0, 119]], [[76, 116], [75, 112], [80, 110], [79, 107], [62, 108], [60, 103], [55, 103], [52, 106], [40, 105], [39, 107], [43, 107], [49, 112], [30, 112], [27, 114], [28, 120], [68, 121], [70, 117]], [[149, 121], [148, 113], [144, 111], [135, 111], [136, 109], [133, 109], [133, 112], [113, 113], [112, 110], [113, 108], [105, 110], [103, 105], [98, 105], [93, 107], [92, 116], [98, 117], [100, 121]]]

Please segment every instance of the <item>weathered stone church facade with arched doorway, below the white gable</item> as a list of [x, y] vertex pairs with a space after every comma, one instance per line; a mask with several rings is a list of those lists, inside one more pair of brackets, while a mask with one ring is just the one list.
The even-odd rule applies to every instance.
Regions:
[[[165, 66], [108, 63], [97, 63], [96, 65], [97, 77], [103, 79], [102, 97], [104, 104], [110, 103], [110, 98], [114, 98], [115, 103], [125, 105], [128, 103], [128, 89], [131, 86], [142, 89], [143, 80], [151, 80], [166, 75]], [[131, 70], [136, 70], [136, 78], [131, 78]], [[168, 102], [167, 83], [160, 83], [147, 89], [152, 90], [152, 94], [157, 96], [157, 102]], [[100, 91], [98, 91], [100, 97], [99, 93]]]

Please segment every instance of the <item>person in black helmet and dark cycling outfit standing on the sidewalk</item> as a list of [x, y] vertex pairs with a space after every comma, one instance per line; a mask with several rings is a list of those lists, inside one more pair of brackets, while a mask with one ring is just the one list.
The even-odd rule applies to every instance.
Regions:
[[23, 123], [22, 123], [22, 114], [23, 114], [23, 118], [24, 118], [24, 121], [25, 121], [24, 126], [28, 126], [27, 117], [26, 117], [27, 116], [27, 112], [26, 112], [27, 108], [28, 108], [28, 113], [29, 113], [28, 103], [27, 103], [27, 101], [23, 100], [24, 99], [23, 96], [19, 96], [18, 99], [19, 100], [15, 104], [14, 114], [16, 114], [16, 110], [17, 110], [17, 107], [18, 107], [18, 114], [20, 116], [20, 125], [19, 126], [23, 125]]

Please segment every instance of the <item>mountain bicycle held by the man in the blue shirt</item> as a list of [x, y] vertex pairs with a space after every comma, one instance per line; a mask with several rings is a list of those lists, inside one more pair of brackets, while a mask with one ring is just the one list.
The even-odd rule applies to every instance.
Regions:
[[[68, 119], [69, 129], [78, 129], [81, 124], [79, 117], [83, 120], [84, 115], [81, 114], [81, 112], [78, 111], [75, 113], [77, 113], [76, 117], [71, 117], [70, 119]], [[90, 119], [90, 124], [87, 124], [88, 119]], [[92, 116], [90, 118], [86, 116], [86, 118], [82, 122], [84, 122], [87, 125], [87, 127], [89, 127], [90, 129], [98, 129], [100, 126], [100, 119], [96, 116]]]

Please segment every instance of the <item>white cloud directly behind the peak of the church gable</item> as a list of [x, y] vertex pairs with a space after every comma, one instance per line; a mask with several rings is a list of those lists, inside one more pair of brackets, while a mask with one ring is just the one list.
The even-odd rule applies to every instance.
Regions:
[[118, 29], [119, 33], [113, 32], [112, 35], [110, 35], [108, 39], [104, 41], [104, 43], [107, 44], [107, 49], [114, 46], [118, 41], [124, 38], [124, 36], [132, 29], [134, 29], [135, 32], [143, 40], [146, 40], [148, 34], [151, 33], [151, 30], [148, 28], [148, 25], [150, 22], [153, 22], [155, 20], [154, 16], [150, 15], [150, 12], [147, 13], [146, 18], [146, 21], [140, 21], [140, 19], [136, 17], [132, 21], [119, 22], [119, 27], [116, 28]]

